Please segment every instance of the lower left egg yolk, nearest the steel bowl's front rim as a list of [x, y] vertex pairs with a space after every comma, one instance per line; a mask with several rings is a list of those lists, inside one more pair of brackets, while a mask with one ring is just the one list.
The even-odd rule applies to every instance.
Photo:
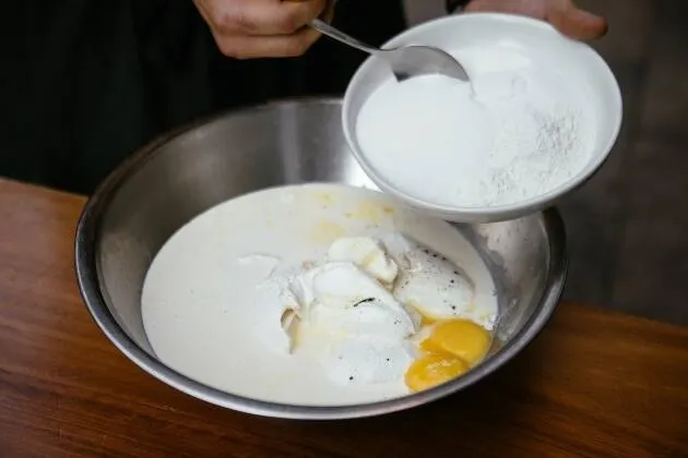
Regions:
[[468, 370], [468, 364], [451, 354], [427, 354], [415, 360], [405, 375], [412, 391], [422, 391], [441, 385]]

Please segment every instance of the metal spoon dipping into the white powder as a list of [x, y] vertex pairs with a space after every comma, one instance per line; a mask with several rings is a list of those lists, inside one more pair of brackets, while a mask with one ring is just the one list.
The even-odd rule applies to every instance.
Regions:
[[313, 20], [310, 26], [332, 39], [352, 46], [372, 56], [387, 59], [396, 80], [404, 81], [412, 76], [439, 73], [461, 81], [468, 81], [468, 74], [451, 55], [431, 46], [402, 46], [380, 49], [357, 40], [321, 20]]

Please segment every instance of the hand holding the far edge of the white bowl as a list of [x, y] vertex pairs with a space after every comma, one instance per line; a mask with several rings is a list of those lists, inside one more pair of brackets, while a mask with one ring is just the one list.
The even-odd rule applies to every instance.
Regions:
[[472, 0], [464, 11], [503, 12], [544, 20], [571, 38], [591, 40], [607, 33], [604, 17], [579, 9], [573, 0]]

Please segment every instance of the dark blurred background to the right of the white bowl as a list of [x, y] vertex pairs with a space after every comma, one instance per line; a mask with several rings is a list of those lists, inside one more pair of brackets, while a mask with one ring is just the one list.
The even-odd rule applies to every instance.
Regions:
[[608, 162], [561, 204], [566, 296], [688, 324], [688, 2], [581, 0], [609, 20], [595, 48], [621, 86]]

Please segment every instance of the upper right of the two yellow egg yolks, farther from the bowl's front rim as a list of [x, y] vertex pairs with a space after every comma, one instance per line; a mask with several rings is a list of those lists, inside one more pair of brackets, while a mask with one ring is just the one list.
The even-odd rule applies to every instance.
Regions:
[[467, 320], [451, 320], [438, 323], [427, 343], [459, 357], [468, 365], [477, 364], [489, 350], [490, 334], [482, 326]]

